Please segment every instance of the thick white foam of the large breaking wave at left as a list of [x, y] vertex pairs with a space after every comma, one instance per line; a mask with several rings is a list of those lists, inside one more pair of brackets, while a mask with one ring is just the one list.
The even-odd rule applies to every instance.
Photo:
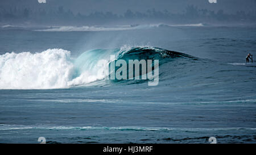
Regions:
[[63, 49], [0, 56], [0, 89], [59, 89], [104, 78], [92, 70], [83, 70], [78, 77], [74, 75], [76, 68], [70, 52]]

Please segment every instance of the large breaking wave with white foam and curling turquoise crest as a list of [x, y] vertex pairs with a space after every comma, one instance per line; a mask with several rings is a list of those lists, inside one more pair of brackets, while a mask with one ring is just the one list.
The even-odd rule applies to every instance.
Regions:
[[[0, 55], [0, 89], [63, 89], [85, 85], [105, 78], [105, 70], [115, 59], [158, 59], [159, 64], [168, 58], [192, 57], [184, 53], [152, 47], [120, 49], [94, 49], [71, 58], [63, 49], [48, 49], [41, 53], [6, 53]], [[167, 58], [167, 59], [166, 59]], [[99, 60], [107, 60], [98, 66]]]

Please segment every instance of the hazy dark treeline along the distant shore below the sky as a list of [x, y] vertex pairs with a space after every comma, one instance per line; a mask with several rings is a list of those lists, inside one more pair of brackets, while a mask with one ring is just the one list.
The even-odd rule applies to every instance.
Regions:
[[146, 12], [133, 12], [127, 10], [124, 14], [113, 12], [93, 12], [88, 15], [74, 14], [63, 7], [55, 9], [9, 9], [0, 7], [0, 23], [19, 24], [43, 24], [43, 25], [93, 25], [93, 24], [141, 24], [141, 23], [255, 23], [256, 10], [254, 12], [237, 11], [236, 14], [226, 14], [224, 10], [217, 12], [207, 9], [198, 9], [189, 5], [180, 14], [172, 14], [168, 10], [157, 11], [155, 9]]

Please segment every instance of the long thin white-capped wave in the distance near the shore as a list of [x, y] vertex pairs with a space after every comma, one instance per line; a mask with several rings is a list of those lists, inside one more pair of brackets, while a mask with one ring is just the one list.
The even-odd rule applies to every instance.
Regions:
[[129, 26], [59, 26], [59, 27], [48, 27], [35, 31], [47, 31], [47, 32], [70, 32], [70, 31], [125, 31], [125, 30], [137, 30], [144, 28], [154, 28], [154, 27], [202, 27], [204, 24], [135, 24]]

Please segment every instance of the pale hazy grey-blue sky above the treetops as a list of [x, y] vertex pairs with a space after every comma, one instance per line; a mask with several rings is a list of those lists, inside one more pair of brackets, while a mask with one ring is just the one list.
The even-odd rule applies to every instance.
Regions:
[[0, 7], [30, 6], [36, 8], [39, 5], [49, 8], [63, 6], [65, 10], [71, 9], [75, 13], [81, 12], [82, 14], [90, 14], [95, 11], [123, 14], [127, 9], [145, 12], [153, 8], [177, 13], [183, 12], [187, 5], [195, 5], [200, 9], [208, 10], [222, 9], [228, 13], [256, 10], [256, 0], [217, 0], [217, 3], [209, 3], [208, 0], [0, 0]]

